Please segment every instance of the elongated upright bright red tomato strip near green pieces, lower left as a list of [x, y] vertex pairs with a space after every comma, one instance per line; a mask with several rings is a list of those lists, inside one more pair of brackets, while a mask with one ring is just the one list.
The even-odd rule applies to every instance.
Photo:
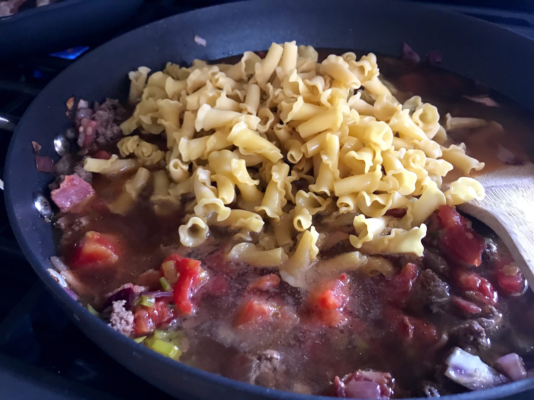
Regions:
[[177, 281], [172, 287], [176, 308], [184, 314], [193, 313], [193, 303], [191, 297], [206, 278], [205, 271], [200, 267], [200, 260], [183, 258], [178, 254], [171, 254], [164, 262], [172, 261], [176, 263], [178, 274]]

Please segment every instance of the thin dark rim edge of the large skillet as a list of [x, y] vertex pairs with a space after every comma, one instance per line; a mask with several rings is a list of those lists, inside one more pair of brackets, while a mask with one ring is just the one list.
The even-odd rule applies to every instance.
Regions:
[[[281, 3], [281, 4], [284, 3], [283, 0], [276, 0], [275, 3], [276, 2]], [[139, 27], [139, 28], [134, 29], [132, 31], [129, 31], [129, 32], [123, 34], [123, 35], [117, 36], [117, 37], [113, 38], [111, 41], [109, 41], [107, 43], [104, 43], [103, 45], [100, 45], [100, 46], [96, 47], [95, 49], [91, 50], [90, 52], [85, 54], [81, 59], [84, 59], [84, 58], [87, 58], [87, 57], [91, 57], [91, 54], [94, 54], [95, 52], [98, 52], [103, 47], [113, 46], [113, 45], [119, 43], [121, 40], [124, 39], [125, 36], [128, 36], [128, 35], [136, 32], [136, 31], [147, 29], [147, 27], [154, 27], [154, 26], [158, 26], [158, 25], [164, 25], [167, 21], [170, 21], [171, 19], [174, 19], [174, 18], [176, 18], [176, 19], [187, 18], [188, 15], [201, 14], [202, 12], [205, 12], [206, 10], [214, 10], [214, 9], [223, 10], [225, 8], [230, 8], [230, 7], [234, 8], [236, 6], [242, 6], [242, 5], [245, 5], [245, 4], [247, 4], [247, 6], [249, 6], [250, 3], [268, 3], [268, 4], [272, 4], [273, 1], [257, 0], [255, 2], [245, 2], [244, 1], [244, 2], [237, 2], [237, 3], [229, 3], [229, 4], [216, 5], [216, 6], [206, 7], [205, 9], [193, 10], [193, 11], [189, 11], [189, 12], [186, 12], [186, 13], [178, 14], [179, 17], [178, 17], [178, 15], [173, 15], [171, 17], [167, 17], [167, 18], [164, 18], [164, 19], [161, 19], [161, 20], [158, 20], [158, 21], [154, 21], [154, 22], [152, 22], [152, 23], [150, 23], [148, 25], [145, 25], [143, 27]], [[378, 2], [376, 2], [376, 1], [371, 2], [371, 1], [364, 0], [364, 1], [361, 1], [360, 3], [365, 5], [365, 4], [373, 4], [373, 3], [377, 4]], [[491, 22], [480, 20], [480, 19], [477, 19], [475, 17], [471, 17], [469, 15], [459, 14], [459, 13], [452, 12], [452, 11], [436, 10], [431, 6], [424, 5], [424, 4], [418, 4], [418, 3], [400, 3], [400, 2], [395, 1], [395, 0], [381, 0], [380, 3], [383, 4], [383, 5], [395, 5], [395, 6], [402, 5], [402, 7], [406, 7], [406, 8], [410, 7], [410, 8], [420, 9], [420, 10], [426, 10], [427, 12], [434, 13], [434, 14], [442, 14], [442, 15], [443, 14], [447, 14], [447, 15], [449, 15], [450, 18], [455, 18], [455, 19], [460, 18], [460, 19], [464, 20], [466, 23], [476, 23], [476, 24], [478, 24], [479, 26], [481, 26], [481, 27], [483, 27], [485, 29], [493, 29], [493, 30], [497, 29], [499, 31], [504, 31], [508, 35], [515, 36], [518, 40], [519, 40], [519, 38], [521, 38], [521, 40], [528, 41], [530, 43], [530, 45], [532, 46], [532, 48], [534, 49], [534, 41], [532, 41], [532, 39], [528, 38], [527, 36], [524, 36], [524, 35], [522, 35], [520, 33], [516, 33], [515, 31], [512, 31], [511, 29], [508, 29], [508, 28], [505, 28], [505, 27], [500, 27], [500, 26], [495, 25], [495, 24], [493, 24]], [[61, 4], [61, 3], [59, 3], [59, 4]], [[39, 95], [37, 95], [37, 97], [34, 99], [32, 104], [30, 104], [30, 106], [26, 110], [26, 113], [22, 116], [21, 123], [19, 124], [19, 126], [21, 126], [22, 123], [25, 121], [25, 119], [28, 119], [29, 116], [32, 114], [32, 111], [38, 107], [39, 99], [44, 97], [43, 93], [45, 93], [45, 91], [47, 89], [50, 90], [50, 88], [54, 86], [54, 83], [57, 82], [58, 79], [60, 79], [63, 74], [65, 74], [65, 71], [68, 71], [71, 68], [73, 68], [74, 66], [76, 66], [77, 62], [78, 61], [74, 62], [71, 66], [67, 67], [64, 71], [61, 71], [61, 73], [56, 78], [52, 79], [52, 81], [45, 87], [45, 89], [43, 89], [43, 91]], [[14, 142], [15, 142], [14, 138], [18, 135], [18, 132], [20, 132], [20, 131], [21, 131], [21, 129], [17, 128], [15, 130], [14, 134], [13, 134], [13, 139], [10, 142], [10, 146], [9, 146], [8, 151], [7, 151], [6, 162], [5, 162], [6, 176], [5, 176], [5, 193], [4, 193], [4, 196], [5, 196], [5, 201], [6, 201], [7, 214], [8, 214], [9, 220], [10, 220], [10, 224], [11, 224], [12, 229], [13, 229], [13, 233], [14, 233], [15, 237], [17, 238], [17, 241], [18, 241], [19, 245], [21, 246], [21, 249], [22, 249], [23, 253], [25, 254], [26, 258], [29, 260], [29, 262], [32, 265], [33, 269], [36, 271], [37, 275], [42, 279], [42, 281], [46, 284], [46, 288], [49, 291], [51, 291], [53, 293], [53, 295], [57, 299], [61, 300], [61, 302], [63, 302], [68, 308], [70, 308], [71, 310], [74, 311], [75, 318], [78, 318], [78, 319], [81, 318], [81, 319], [84, 319], [85, 321], [89, 321], [89, 322], [91, 322], [93, 324], [96, 322], [97, 323], [96, 325], [99, 326], [99, 329], [111, 330], [112, 333], [113, 333], [113, 336], [115, 337], [116, 340], [122, 341], [124, 343], [128, 342], [128, 345], [130, 345], [130, 346], [133, 345], [132, 349], [135, 349], [138, 353], [140, 353], [144, 357], [156, 357], [156, 359], [158, 359], [160, 363], [166, 364], [169, 367], [177, 369], [177, 371], [183, 371], [183, 372], [186, 372], [186, 373], [189, 373], [189, 374], [196, 375], [196, 376], [198, 376], [198, 377], [200, 377], [202, 379], [213, 381], [213, 382], [218, 383], [219, 385], [222, 385], [222, 386], [227, 387], [227, 388], [237, 389], [239, 391], [244, 391], [246, 393], [253, 394], [253, 395], [269, 396], [270, 398], [280, 399], [280, 400], [288, 400], [288, 399], [327, 400], [327, 399], [332, 399], [331, 397], [326, 397], [326, 396], [314, 396], [314, 395], [299, 394], [299, 393], [293, 393], [293, 392], [290, 392], [290, 391], [283, 391], [283, 390], [278, 390], [278, 389], [269, 389], [269, 388], [264, 388], [264, 387], [261, 387], [261, 386], [250, 385], [249, 383], [235, 381], [235, 380], [232, 380], [232, 379], [229, 379], [229, 378], [225, 378], [222, 375], [218, 375], [218, 374], [215, 374], [215, 373], [210, 373], [210, 372], [207, 372], [207, 371], [203, 371], [203, 370], [197, 369], [196, 367], [191, 367], [189, 365], [183, 364], [181, 362], [177, 363], [174, 360], [169, 359], [169, 358], [167, 358], [167, 357], [165, 357], [163, 355], [160, 355], [160, 354], [156, 353], [155, 351], [153, 351], [151, 349], [148, 349], [147, 347], [145, 347], [145, 346], [143, 346], [143, 345], [141, 345], [139, 343], [135, 343], [131, 339], [129, 339], [127, 337], [124, 337], [124, 335], [120, 334], [119, 332], [116, 332], [116, 331], [112, 330], [111, 327], [107, 326], [106, 323], [104, 323], [103, 321], [101, 321], [97, 317], [95, 317], [92, 314], [90, 314], [89, 311], [87, 311], [87, 309], [85, 309], [81, 305], [81, 303], [79, 303], [78, 301], [72, 299], [64, 290], [62, 290], [60, 288], [60, 286], [56, 283], [56, 281], [54, 281], [54, 279], [48, 274], [48, 272], [46, 271], [47, 266], [45, 265], [46, 262], [48, 262], [48, 261], [41, 260], [40, 258], [37, 257], [37, 254], [34, 253], [30, 249], [29, 242], [26, 240], [25, 234], [23, 233], [20, 224], [17, 223], [17, 215], [15, 214], [15, 209], [14, 209], [14, 198], [13, 198], [14, 192], [11, 190], [12, 183], [13, 183], [13, 180], [15, 179], [15, 176], [14, 176], [13, 173], [10, 173], [10, 170], [11, 170], [10, 166], [12, 166], [14, 164], [14, 159], [15, 159], [14, 158], [15, 157], [14, 156], [14, 153], [15, 153], [15, 151], [14, 151]], [[135, 345], [137, 345], [137, 347], [135, 347]], [[513, 395], [513, 394], [517, 394], [517, 393], [520, 393], [521, 391], [524, 391], [524, 390], [527, 390], [527, 389], [531, 389], [531, 388], [534, 388], [534, 378], [529, 378], [529, 379], [525, 379], [525, 380], [522, 380], [522, 381], [512, 382], [512, 383], [508, 383], [508, 384], [500, 386], [500, 387], [496, 387], [496, 388], [492, 388], [492, 389], [486, 389], [486, 390], [482, 390], [482, 391], [478, 391], [478, 392], [466, 392], [466, 393], [462, 393], [462, 394], [448, 395], [448, 396], [442, 396], [442, 397], [444, 399], [446, 399], [446, 400], [467, 400], [467, 399], [469, 399], [469, 400], [479, 400], [479, 399], [482, 400], [482, 399], [498, 398], [498, 397], [504, 397], [504, 396], [508, 396], [508, 395]], [[415, 398], [406, 399], [406, 400], [415, 400]]]

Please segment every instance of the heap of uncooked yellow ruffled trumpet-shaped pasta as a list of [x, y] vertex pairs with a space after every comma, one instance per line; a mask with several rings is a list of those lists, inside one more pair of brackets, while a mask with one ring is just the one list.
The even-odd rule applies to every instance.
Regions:
[[[311, 46], [273, 43], [264, 59], [245, 52], [235, 65], [195, 60], [149, 73], [129, 75], [136, 107], [121, 126], [121, 158], [88, 158], [84, 167], [138, 167], [113, 212], [127, 213], [151, 179], [161, 210], [189, 199], [179, 227], [184, 246], [205, 241], [210, 226], [228, 227], [237, 244], [226, 257], [277, 266], [301, 286], [317, 262], [319, 216], [354, 219], [355, 251], [339, 257], [362, 263], [365, 254], [421, 255], [423, 222], [439, 205], [484, 196], [467, 177], [441, 190], [453, 167], [467, 175], [484, 164], [463, 144], [443, 146], [436, 107], [417, 96], [399, 103], [372, 53], [319, 63]], [[168, 151], [136, 130], [163, 135]], [[391, 209], [407, 212], [385, 215]]]

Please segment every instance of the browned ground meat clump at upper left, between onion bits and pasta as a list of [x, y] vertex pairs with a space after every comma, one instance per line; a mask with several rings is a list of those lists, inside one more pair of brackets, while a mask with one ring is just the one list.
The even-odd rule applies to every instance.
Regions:
[[119, 124], [124, 120], [125, 110], [119, 100], [106, 99], [101, 105], [95, 104], [93, 119], [98, 121], [96, 141], [107, 145], [122, 137]]

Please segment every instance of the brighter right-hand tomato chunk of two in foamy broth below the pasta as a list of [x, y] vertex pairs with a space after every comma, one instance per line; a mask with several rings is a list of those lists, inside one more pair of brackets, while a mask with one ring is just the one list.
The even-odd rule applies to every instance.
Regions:
[[343, 314], [343, 307], [349, 301], [349, 278], [341, 274], [319, 284], [308, 299], [313, 316], [321, 324], [337, 326], [347, 321]]

